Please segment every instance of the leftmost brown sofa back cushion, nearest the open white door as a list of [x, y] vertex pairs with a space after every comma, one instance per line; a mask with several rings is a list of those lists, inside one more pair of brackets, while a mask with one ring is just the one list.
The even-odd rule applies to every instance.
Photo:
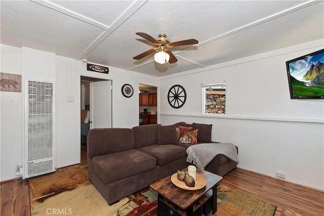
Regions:
[[94, 128], [87, 143], [90, 157], [134, 149], [134, 133], [130, 128]]

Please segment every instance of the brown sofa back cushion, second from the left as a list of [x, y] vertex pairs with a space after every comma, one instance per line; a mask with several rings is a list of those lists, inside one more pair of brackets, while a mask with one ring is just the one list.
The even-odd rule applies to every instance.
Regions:
[[157, 127], [161, 124], [145, 124], [133, 127], [135, 149], [157, 144]]

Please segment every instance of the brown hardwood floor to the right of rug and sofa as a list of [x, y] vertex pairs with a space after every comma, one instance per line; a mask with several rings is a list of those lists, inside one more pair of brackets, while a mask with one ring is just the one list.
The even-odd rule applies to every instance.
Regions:
[[324, 191], [292, 184], [287, 181], [236, 168], [229, 172], [221, 184], [242, 191], [282, 208], [290, 208], [305, 215], [324, 215]]

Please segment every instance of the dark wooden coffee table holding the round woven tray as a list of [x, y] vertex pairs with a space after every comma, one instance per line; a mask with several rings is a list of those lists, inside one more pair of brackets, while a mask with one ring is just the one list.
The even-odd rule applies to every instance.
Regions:
[[197, 174], [206, 179], [206, 186], [199, 190], [178, 188], [171, 182], [171, 176], [150, 185], [158, 193], [158, 215], [201, 215], [211, 209], [216, 213], [217, 185], [223, 177], [202, 169], [197, 169]]

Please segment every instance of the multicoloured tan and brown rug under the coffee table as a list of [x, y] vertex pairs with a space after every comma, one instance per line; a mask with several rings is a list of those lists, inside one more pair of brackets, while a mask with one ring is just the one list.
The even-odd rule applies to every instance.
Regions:
[[[31, 215], [157, 215], [157, 193], [149, 187], [109, 206], [88, 181], [86, 165], [29, 180], [29, 196]], [[218, 187], [217, 216], [272, 216], [275, 210], [268, 202], [224, 185]], [[300, 216], [286, 209], [282, 213]]]

